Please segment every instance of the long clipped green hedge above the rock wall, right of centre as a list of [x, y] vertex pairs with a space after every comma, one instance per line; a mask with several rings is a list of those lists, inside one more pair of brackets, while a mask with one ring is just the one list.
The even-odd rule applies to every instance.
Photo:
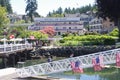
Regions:
[[64, 46], [78, 46], [78, 45], [114, 45], [115, 38], [108, 35], [84, 35], [84, 36], [68, 36], [64, 37]]

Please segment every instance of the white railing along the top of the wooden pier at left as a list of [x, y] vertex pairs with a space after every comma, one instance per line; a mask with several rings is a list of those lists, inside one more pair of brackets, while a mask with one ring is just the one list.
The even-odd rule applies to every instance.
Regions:
[[32, 49], [32, 44], [6, 44], [0, 45], [0, 53], [14, 52], [18, 50]]

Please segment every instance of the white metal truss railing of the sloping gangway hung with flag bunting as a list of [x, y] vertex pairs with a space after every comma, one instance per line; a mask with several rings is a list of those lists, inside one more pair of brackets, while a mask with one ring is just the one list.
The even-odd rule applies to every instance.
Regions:
[[113, 49], [98, 53], [93, 53], [89, 55], [83, 55], [73, 58], [67, 58], [63, 60], [53, 61], [50, 63], [42, 63], [37, 65], [32, 65], [28, 67], [22, 67], [16, 69], [17, 74], [20, 77], [32, 77], [32, 76], [39, 76], [39, 75], [46, 75], [51, 73], [63, 72], [63, 71], [70, 71], [71, 61], [80, 61], [80, 66], [82, 68], [92, 67], [92, 59], [98, 57], [99, 55], [103, 56], [103, 63], [104, 64], [113, 64], [116, 62], [116, 54], [120, 53], [119, 49]]

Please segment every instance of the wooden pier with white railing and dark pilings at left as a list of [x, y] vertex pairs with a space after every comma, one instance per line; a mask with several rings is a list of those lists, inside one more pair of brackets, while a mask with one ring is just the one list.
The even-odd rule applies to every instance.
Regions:
[[19, 61], [30, 59], [30, 52], [33, 50], [31, 43], [3, 44], [0, 45], [1, 68], [15, 66]]

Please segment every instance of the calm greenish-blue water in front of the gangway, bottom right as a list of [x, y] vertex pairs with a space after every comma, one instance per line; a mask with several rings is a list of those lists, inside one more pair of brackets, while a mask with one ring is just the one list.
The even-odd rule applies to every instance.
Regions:
[[65, 80], [120, 80], [120, 71], [118, 69], [108, 69], [102, 72], [91, 72], [84, 74], [65, 74], [56, 73], [48, 76], [55, 78], [64, 78]]

